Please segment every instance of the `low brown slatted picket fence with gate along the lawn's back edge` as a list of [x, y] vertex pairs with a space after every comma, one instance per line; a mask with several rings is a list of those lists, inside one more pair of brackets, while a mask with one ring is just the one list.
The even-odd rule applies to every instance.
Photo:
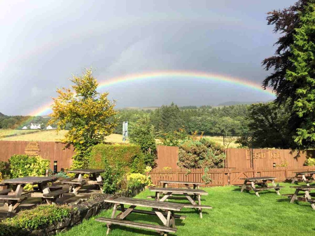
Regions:
[[[272, 169], [210, 169], [208, 174], [212, 181], [203, 186], [225, 186], [233, 184], [242, 184], [244, 181], [241, 178], [245, 177], [262, 177], [272, 176], [276, 177], [277, 182], [283, 182], [295, 176], [296, 171], [313, 171], [315, 166], [299, 166], [297, 168], [276, 167]], [[157, 170], [147, 173], [150, 175], [154, 185], [161, 186], [160, 180], [173, 180], [173, 181], [194, 181], [204, 183], [202, 176], [204, 175], [203, 169], [190, 169], [188, 172], [184, 169], [176, 169], [175, 171]], [[184, 187], [184, 185], [176, 184], [175, 187]]]

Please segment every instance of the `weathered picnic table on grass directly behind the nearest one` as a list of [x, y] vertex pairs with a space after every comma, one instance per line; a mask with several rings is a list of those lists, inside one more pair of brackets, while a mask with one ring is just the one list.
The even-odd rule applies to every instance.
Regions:
[[[150, 191], [155, 192], [155, 200], [161, 202], [168, 199], [172, 194], [184, 195], [186, 199], [188, 199], [188, 201], [191, 203], [184, 204], [184, 207], [198, 209], [200, 218], [202, 218], [203, 208], [212, 209], [211, 206], [201, 205], [201, 195], [208, 195], [208, 192], [204, 191], [203, 189], [150, 187]], [[160, 199], [161, 193], [163, 193], [164, 195]], [[198, 203], [196, 203], [196, 201], [192, 199], [191, 195], [198, 196]]]

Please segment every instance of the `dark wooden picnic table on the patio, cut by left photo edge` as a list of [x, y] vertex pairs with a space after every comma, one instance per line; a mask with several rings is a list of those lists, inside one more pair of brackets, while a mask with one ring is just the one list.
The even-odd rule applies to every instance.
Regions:
[[[48, 183], [53, 183], [57, 180], [57, 177], [33, 177], [26, 176], [14, 179], [6, 179], [1, 183], [9, 185], [12, 184], [15, 187], [15, 190], [11, 188], [0, 191], [0, 200], [4, 200], [5, 204], [8, 205], [8, 216], [14, 213], [16, 208], [20, 203], [29, 198], [29, 197], [40, 197], [43, 200], [46, 200], [48, 204], [54, 204], [55, 200], [58, 197], [61, 197], [63, 193], [67, 192], [67, 189], [50, 188]], [[23, 192], [23, 188], [26, 184], [37, 184], [38, 190], [31, 192]]]

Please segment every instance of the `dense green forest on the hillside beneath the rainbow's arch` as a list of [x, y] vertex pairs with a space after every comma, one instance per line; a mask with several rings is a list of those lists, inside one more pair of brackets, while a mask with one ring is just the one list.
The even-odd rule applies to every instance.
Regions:
[[[149, 113], [156, 133], [167, 133], [183, 128], [188, 133], [203, 132], [205, 135], [237, 136], [248, 132], [248, 105], [224, 107], [186, 106], [172, 103], [155, 110], [120, 110], [120, 121], [136, 121], [139, 116]], [[116, 133], [122, 133], [117, 126]]]

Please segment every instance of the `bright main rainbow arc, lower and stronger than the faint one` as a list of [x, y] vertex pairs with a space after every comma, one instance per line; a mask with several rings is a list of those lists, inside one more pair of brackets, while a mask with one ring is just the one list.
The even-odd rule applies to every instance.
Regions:
[[[272, 92], [271, 89], [267, 88], [266, 90], [263, 90], [259, 84], [256, 84], [252, 81], [248, 81], [245, 79], [240, 79], [240, 78], [232, 77], [232, 76], [206, 73], [206, 72], [193, 72], [193, 71], [159, 71], [159, 72], [149, 72], [149, 73], [141, 73], [141, 74], [131, 74], [131, 75], [126, 75], [126, 76], [121, 76], [121, 77], [114, 77], [114, 78], [99, 82], [98, 89], [102, 89], [104, 87], [108, 87], [108, 86], [120, 84], [120, 83], [127, 83], [127, 82], [138, 81], [138, 80], [153, 80], [153, 79], [159, 79], [159, 78], [171, 78], [171, 79], [191, 78], [191, 79], [205, 79], [205, 80], [210, 80], [210, 81], [218, 81], [218, 82], [224, 82], [228, 84], [241, 85], [243, 87], [254, 89], [261, 93], [267, 93], [269, 95], [272, 95], [273, 97], [275, 96], [275, 94]], [[41, 106], [40, 108], [38, 108], [37, 110], [34, 110], [33, 112], [31, 112], [31, 115], [32, 116], [47, 115], [51, 112], [51, 108], [50, 108], [51, 105], [52, 105], [52, 102], [45, 104]]]

